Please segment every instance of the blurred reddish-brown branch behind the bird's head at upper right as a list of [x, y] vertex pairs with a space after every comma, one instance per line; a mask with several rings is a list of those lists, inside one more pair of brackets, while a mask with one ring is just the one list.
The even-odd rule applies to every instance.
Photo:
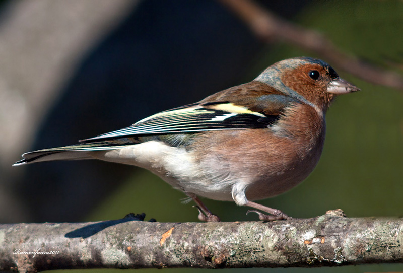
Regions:
[[311, 51], [332, 65], [367, 82], [403, 90], [403, 77], [342, 52], [320, 33], [281, 19], [253, 0], [220, 0], [239, 16], [261, 40], [282, 40]]

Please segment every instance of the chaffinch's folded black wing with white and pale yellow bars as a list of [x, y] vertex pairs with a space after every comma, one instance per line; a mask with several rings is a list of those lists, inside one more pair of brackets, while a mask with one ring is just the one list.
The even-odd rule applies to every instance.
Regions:
[[144, 135], [265, 128], [273, 124], [278, 118], [278, 115], [251, 111], [246, 107], [229, 102], [198, 103], [160, 112], [127, 128], [80, 142], [90, 143]]

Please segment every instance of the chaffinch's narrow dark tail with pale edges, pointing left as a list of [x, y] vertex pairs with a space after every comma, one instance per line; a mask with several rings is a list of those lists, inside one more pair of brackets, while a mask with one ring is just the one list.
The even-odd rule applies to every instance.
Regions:
[[90, 156], [92, 151], [113, 150], [119, 146], [121, 145], [113, 145], [110, 142], [94, 142], [43, 149], [23, 154], [23, 159], [14, 163], [13, 166], [43, 161], [93, 159]]

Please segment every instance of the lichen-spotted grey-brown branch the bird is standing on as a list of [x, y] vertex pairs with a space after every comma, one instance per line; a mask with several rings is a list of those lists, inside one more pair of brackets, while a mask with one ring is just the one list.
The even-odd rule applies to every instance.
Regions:
[[0, 270], [310, 267], [403, 262], [402, 218], [0, 225]]

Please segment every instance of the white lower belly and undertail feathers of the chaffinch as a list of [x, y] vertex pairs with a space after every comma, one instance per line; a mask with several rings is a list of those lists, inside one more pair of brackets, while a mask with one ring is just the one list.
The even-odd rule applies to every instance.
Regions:
[[94, 151], [90, 155], [105, 161], [145, 168], [185, 193], [215, 200], [232, 200], [232, 183], [211, 181], [195, 163], [193, 154], [184, 148], [148, 141], [115, 150]]

